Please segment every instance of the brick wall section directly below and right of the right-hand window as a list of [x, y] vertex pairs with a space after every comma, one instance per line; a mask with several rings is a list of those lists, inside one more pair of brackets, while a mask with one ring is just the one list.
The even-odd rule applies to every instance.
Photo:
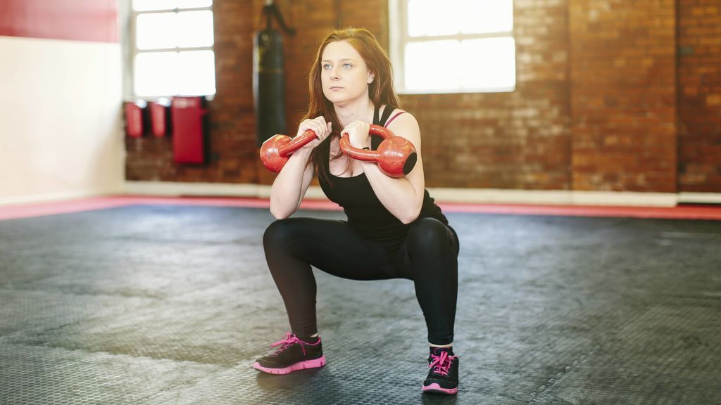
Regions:
[[570, 187], [566, 2], [514, 6], [515, 92], [403, 97], [420, 123], [428, 187]]

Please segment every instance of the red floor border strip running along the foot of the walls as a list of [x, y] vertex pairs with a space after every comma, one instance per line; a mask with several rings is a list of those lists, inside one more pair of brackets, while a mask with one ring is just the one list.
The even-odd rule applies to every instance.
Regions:
[[[0, 220], [77, 213], [126, 205], [205, 205], [267, 209], [270, 201], [267, 198], [251, 197], [145, 197], [132, 195], [92, 197], [55, 203], [2, 206], [0, 207]], [[470, 203], [438, 203], [438, 205], [447, 213], [721, 220], [721, 206], [715, 205], [684, 205], [669, 208]], [[301, 208], [340, 210], [337, 204], [327, 200], [304, 200]]]

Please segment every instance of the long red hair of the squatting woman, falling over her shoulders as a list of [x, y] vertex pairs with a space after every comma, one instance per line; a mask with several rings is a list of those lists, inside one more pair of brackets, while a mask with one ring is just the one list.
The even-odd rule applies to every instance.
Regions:
[[[368, 66], [368, 70], [375, 75], [373, 82], [368, 84], [368, 97], [373, 102], [373, 105], [375, 105], [376, 108], [383, 104], [388, 104], [391, 107], [401, 107], [400, 100], [393, 89], [391, 61], [386, 51], [381, 48], [381, 44], [378, 43], [378, 40], [376, 40], [376, 37], [373, 36], [370, 31], [365, 28], [348, 27], [342, 30], [333, 30], [326, 35], [310, 67], [308, 75], [310, 101], [308, 104], [308, 112], [306, 116], [303, 117], [303, 120], [322, 115], [326, 121], [333, 123], [331, 135], [317, 146], [311, 154], [311, 161], [318, 170], [319, 177], [322, 177], [329, 183], [330, 179], [327, 177], [326, 172], [328, 167], [327, 156], [329, 156], [330, 153], [330, 141], [333, 137], [340, 136], [340, 130], [342, 128], [340, 128], [340, 122], [335, 115], [333, 103], [323, 94], [321, 61], [325, 47], [329, 43], [336, 41], [346, 41], [353, 46], [353, 48], [361, 54], [363, 61], [365, 61], [366, 66]], [[339, 156], [340, 154], [333, 156], [333, 159]]]

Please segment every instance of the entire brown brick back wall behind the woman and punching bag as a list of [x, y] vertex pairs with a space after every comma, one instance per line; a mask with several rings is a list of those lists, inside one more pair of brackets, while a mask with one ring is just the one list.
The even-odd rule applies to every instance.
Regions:
[[[257, 158], [252, 105], [252, 35], [264, 24], [263, 3], [214, 2], [213, 161], [175, 167], [167, 139], [128, 140], [128, 179], [273, 181]], [[297, 30], [284, 37], [287, 124], [294, 128], [306, 111], [306, 77], [319, 40], [353, 25], [387, 46], [387, 2], [277, 3]], [[514, 6], [515, 92], [402, 98], [421, 126], [428, 187], [676, 192], [680, 183], [682, 191], [721, 192], [714, 6], [704, 0], [679, 6], [680, 87], [674, 1], [516, 0]]]

